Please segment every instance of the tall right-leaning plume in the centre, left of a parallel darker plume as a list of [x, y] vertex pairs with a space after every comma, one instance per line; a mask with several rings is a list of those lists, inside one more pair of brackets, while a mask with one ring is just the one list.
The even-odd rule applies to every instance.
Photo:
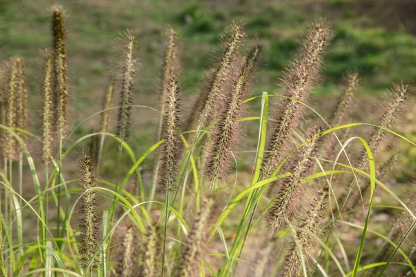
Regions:
[[211, 123], [221, 112], [220, 107], [224, 100], [223, 87], [229, 80], [230, 69], [243, 42], [245, 35], [243, 29], [243, 26], [234, 22], [223, 34], [224, 48], [219, 54], [218, 65], [209, 81], [206, 92], [202, 91], [202, 94], [206, 97], [202, 99], [202, 110], [198, 118], [198, 124], [200, 125]]

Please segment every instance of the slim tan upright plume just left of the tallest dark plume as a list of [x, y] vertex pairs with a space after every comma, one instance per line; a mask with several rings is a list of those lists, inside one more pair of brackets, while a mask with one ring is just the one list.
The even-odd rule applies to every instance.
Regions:
[[53, 148], [53, 68], [52, 53], [45, 49], [42, 80], [42, 160], [51, 161]]

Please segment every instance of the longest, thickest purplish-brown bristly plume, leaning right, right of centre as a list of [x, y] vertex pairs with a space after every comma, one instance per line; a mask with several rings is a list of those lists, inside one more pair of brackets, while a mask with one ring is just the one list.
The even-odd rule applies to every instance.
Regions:
[[263, 178], [270, 175], [279, 165], [282, 152], [293, 129], [298, 125], [304, 102], [318, 78], [322, 64], [322, 55], [331, 39], [331, 29], [324, 21], [316, 21], [306, 32], [300, 54], [284, 73], [281, 91], [283, 99], [281, 109], [277, 109], [277, 123], [272, 131], [268, 152], [263, 159]]

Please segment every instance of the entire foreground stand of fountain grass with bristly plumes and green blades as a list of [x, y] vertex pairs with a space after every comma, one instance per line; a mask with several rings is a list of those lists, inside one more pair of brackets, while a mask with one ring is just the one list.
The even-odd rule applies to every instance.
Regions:
[[[263, 46], [248, 46], [243, 24], [227, 27], [189, 111], [181, 105], [187, 101], [181, 95], [181, 49], [171, 28], [165, 33], [159, 107], [135, 105], [140, 104], [135, 87], [139, 42], [127, 31], [119, 72], [108, 76], [103, 109], [75, 127], [69, 124], [71, 60], [59, 6], [51, 8], [51, 30], [51, 48], [40, 51], [39, 134], [28, 132], [33, 118], [24, 58], [1, 63], [1, 276], [416, 274], [414, 192], [402, 199], [385, 185], [397, 154], [385, 161], [380, 155], [395, 152], [390, 145], [397, 141], [416, 147], [390, 129], [412, 87], [404, 81], [392, 84], [377, 123], [352, 123], [359, 76], [348, 71], [338, 103], [323, 107], [330, 109], [325, 111], [329, 118], [320, 116], [308, 100], [331, 48], [327, 21], [310, 25], [279, 89], [260, 96], [250, 91], [257, 85]], [[261, 101], [260, 113], [251, 116], [248, 105], [256, 101]], [[144, 153], [132, 152], [131, 120], [149, 110], [157, 124], [155, 144]], [[73, 137], [94, 118], [101, 118], [99, 132]], [[257, 145], [241, 151], [248, 122], [257, 123]], [[372, 130], [369, 136], [352, 133], [365, 127]], [[112, 176], [101, 179], [105, 139], [119, 148]], [[32, 157], [34, 145], [42, 145], [42, 154]], [[254, 154], [250, 179], [237, 178], [248, 171], [239, 169], [241, 152]], [[78, 177], [68, 179], [73, 161], [65, 158], [73, 156]], [[122, 162], [125, 156], [130, 167]], [[154, 161], [151, 176], [142, 175], [145, 159]], [[31, 179], [24, 175], [26, 165]], [[35, 195], [23, 197], [32, 185]], [[376, 191], [395, 202], [374, 206]], [[372, 229], [375, 208], [388, 209], [390, 233]], [[374, 253], [374, 247], [380, 250]]]

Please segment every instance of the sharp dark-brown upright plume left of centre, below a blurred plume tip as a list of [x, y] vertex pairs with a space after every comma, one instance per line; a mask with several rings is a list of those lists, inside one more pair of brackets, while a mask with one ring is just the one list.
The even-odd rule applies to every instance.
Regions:
[[177, 188], [176, 175], [179, 170], [179, 150], [182, 143], [180, 139], [180, 87], [177, 77], [171, 73], [166, 84], [166, 100], [162, 122], [162, 149], [159, 152], [159, 188], [162, 190], [175, 190]]

